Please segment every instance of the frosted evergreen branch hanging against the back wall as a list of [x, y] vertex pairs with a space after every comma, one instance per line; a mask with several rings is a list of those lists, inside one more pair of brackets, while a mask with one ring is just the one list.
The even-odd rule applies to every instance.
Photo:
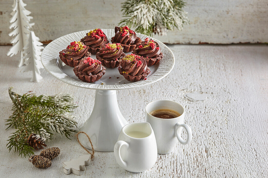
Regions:
[[120, 25], [134, 27], [136, 32], [152, 36], [166, 35], [168, 30], [182, 30], [188, 24], [183, 0], [127, 0], [122, 3], [125, 19]]

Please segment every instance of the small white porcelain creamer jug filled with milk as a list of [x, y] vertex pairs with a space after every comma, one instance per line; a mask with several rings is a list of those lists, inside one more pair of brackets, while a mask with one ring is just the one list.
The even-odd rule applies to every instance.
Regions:
[[143, 172], [153, 167], [157, 160], [157, 146], [150, 123], [125, 125], [114, 145], [114, 156], [129, 172]]

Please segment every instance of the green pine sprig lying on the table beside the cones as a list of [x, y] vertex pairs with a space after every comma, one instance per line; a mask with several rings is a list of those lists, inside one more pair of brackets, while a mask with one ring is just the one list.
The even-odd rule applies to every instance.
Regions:
[[73, 128], [77, 122], [70, 113], [77, 106], [72, 103], [70, 95], [18, 95], [11, 89], [12, 87], [9, 88], [9, 96], [13, 102], [13, 113], [6, 119], [5, 125], [17, 130], [9, 137], [7, 144], [9, 152], [13, 149], [25, 157], [34, 154], [33, 148], [26, 143], [31, 133], [51, 140], [54, 132], [61, 133], [67, 138], [76, 132]]

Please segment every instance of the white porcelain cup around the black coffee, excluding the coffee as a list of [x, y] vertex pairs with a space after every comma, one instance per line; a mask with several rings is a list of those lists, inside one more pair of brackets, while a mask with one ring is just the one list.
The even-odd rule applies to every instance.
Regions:
[[[161, 119], [152, 116], [150, 113], [155, 110], [174, 110], [181, 115], [172, 119]], [[168, 154], [174, 150], [178, 141], [185, 145], [192, 140], [192, 130], [184, 123], [184, 107], [179, 103], [170, 100], [157, 100], [149, 103], [145, 108], [145, 119], [154, 130], [158, 154]], [[182, 128], [186, 130], [187, 139], [181, 138]]]

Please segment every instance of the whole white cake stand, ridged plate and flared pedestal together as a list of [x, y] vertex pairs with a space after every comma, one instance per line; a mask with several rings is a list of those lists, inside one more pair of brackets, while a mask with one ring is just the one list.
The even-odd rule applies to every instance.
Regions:
[[[62, 82], [81, 88], [96, 90], [94, 108], [90, 117], [80, 130], [90, 136], [96, 151], [110, 152], [114, 149], [114, 144], [122, 127], [128, 123], [119, 110], [116, 90], [136, 88], [157, 82], [168, 75], [173, 69], [175, 58], [172, 51], [165, 44], [152, 38], [158, 42], [164, 57], [159, 64], [150, 66], [151, 72], [147, 76], [147, 80], [129, 82], [119, 74], [117, 68], [107, 68], [105, 75], [100, 80], [94, 83], [82, 82], [75, 76], [73, 67], [66, 66], [62, 63], [59, 59], [59, 52], [65, 49], [70, 42], [80, 41], [89, 31], [85, 30], [67, 34], [50, 42], [42, 52], [41, 61], [44, 68]], [[114, 36], [114, 30], [103, 29], [103, 32], [107, 35], [108, 40], [111, 41], [111, 37]], [[151, 38], [144, 34], [136, 34], [142, 40], [147, 37], [149, 39]], [[91, 55], [91, 57], [96, 59], [95, 55]], [[91, 145], [86, 137], [81, 136], [79, 139], [85, 147], [91, 149]]]

